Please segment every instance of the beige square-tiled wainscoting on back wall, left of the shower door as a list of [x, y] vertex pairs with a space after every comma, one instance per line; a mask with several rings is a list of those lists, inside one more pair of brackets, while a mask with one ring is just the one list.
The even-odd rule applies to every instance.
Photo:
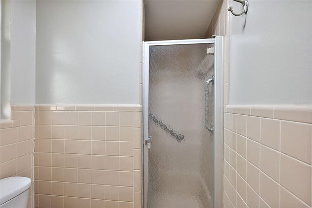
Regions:
[[141, 105], [36, 105], [36, 208], [140, 208]]

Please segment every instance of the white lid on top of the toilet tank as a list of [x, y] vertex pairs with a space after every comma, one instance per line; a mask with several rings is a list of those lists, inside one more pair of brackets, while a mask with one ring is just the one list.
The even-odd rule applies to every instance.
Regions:
[[0, 205], [16, 197], [30, 187], [30, 178], [14, 176], [0, 179]]

